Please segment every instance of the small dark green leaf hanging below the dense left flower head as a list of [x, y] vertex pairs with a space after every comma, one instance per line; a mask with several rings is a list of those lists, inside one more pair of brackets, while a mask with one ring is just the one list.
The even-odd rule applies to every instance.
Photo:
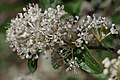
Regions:
[[38, 62], [38, 59], [35, 59], [34, 61], [32, 61], [32, 59], [28, 59], [28, 68], [29, 68], [31, 73], [36, 71], [37, 62]]

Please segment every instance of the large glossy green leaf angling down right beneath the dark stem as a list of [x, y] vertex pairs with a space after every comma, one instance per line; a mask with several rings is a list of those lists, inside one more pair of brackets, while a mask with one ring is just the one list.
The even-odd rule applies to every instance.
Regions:
[[[81, 65], [82, 69], [94, 74], [102, 73], [102, 68], [99, 65], [99, 63], [91, 56], [91, 53], [89, 52], [88, 48], [85, 47], [85, 53], [83, 53], [83, 63]], [[84, 65], [84, 66], [83, 66]]]

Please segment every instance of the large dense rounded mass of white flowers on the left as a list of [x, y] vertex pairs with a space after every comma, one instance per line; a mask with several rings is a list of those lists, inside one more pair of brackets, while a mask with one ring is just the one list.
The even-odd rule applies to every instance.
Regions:
[[33, 55], [37, 59], [36, 49], [46, 49], [57, 42], [55, 32], [62, 26], [60, 18], [65, 14], [63, 8], [57, 6], [57, 9], [49, 8], [44, 12], [37, 4], [23, 8], [24, 13], [18, 13], [6, 31], [6, 40], [12, 50], [17, 51], [22, 59], [30, 59]]

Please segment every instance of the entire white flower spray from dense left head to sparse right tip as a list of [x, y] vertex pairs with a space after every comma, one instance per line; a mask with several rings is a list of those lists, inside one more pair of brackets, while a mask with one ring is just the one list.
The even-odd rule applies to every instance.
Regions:
[[[88, 44], [94, 36], [101, 35], [99, 32], [101, 27], [110, 31], [107, 34], [102, 32], [104, 36], [118, 34], [114, 25], [109, 29], [105, 17], [87, 16], [83, 24], [79, 24], [78, 16], [61, 19], [67, 12], [64, 11], [64, 6], [60, 5], [56, 9], [48, 8], [48, 10], [42, 11], [37, 4], [29, 4], [27, 8], [23, 8], [23, 11], [24, 13], [18, 13], [17, 17], [11, 20], [10, 27], [6, 31], [9, 46], [22, 59], [38, 59], [36, 50], [40, 50], [42, 53], [50, 50], [51, 54], [52, 51], [59, 50], [64, 45], [67, 45], [71, 51], [75, 47], [84, 49], [83, 44]], [[70, 53], [73, 54], [73, 52]], [[76, 62], [74, 56], [69, 58], [68, 63], [70, 67], [78, 67], [78, 64], [73, 62]]]

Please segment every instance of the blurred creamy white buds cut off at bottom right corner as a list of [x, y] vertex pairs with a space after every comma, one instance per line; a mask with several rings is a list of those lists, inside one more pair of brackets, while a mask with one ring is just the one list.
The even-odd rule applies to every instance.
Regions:
[[105, 68], [103, 73], [105, 75], [110, 75], [108, 80], [120, 80], [120, 56], [112, 60], [105, 58], [102, 64], [104, 64]]

